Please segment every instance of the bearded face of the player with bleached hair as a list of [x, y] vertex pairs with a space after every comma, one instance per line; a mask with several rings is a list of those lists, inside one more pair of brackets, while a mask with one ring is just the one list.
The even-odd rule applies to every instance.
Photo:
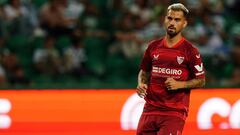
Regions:
[[170, 37], [176, 36], [187, 25], [186, 18], [182, 11], [169, 10], [164, 21], [167, 34]]

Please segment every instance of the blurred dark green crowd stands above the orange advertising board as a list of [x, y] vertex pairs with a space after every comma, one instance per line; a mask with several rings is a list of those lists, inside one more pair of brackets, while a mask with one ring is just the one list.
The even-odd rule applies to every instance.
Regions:
[[0, 0], [0, 87], [135, 88], [172, 2], [191, 11], [206, 87], [239, 87], [239, 0]]

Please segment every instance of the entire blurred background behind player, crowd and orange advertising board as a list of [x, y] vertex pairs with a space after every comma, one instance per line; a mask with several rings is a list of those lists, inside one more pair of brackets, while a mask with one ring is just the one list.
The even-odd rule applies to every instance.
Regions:
[[135, 134], [140, 60], [173, 2], [207, 72], [183, 134], [239, 135], [239, 0], [0, 0], [0, 134]]

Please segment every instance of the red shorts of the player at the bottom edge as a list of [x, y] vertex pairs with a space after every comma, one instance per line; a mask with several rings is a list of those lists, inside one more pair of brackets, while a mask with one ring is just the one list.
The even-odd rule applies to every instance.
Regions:
[[185, 121], [176, 116], [142, 114], [137, 135], [181, 135]]

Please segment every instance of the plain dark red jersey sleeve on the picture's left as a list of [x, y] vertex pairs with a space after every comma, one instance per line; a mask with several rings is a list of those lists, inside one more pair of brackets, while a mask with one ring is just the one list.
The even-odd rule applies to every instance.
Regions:
[[151, 68], [152, 68], [152, 60], [151, 60], [151, 45], [148, 45], [148, 48], [146, 49], [146, 51], [144, 52], [141, 64], [140, 64], [140, 68], [143, 71], [147, 71], [150, 72]]

